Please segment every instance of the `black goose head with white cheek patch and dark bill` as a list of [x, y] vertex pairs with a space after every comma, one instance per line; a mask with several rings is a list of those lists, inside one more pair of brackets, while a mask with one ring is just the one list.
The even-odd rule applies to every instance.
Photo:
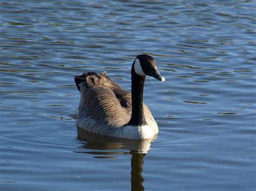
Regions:
[[155, 79], [164, 82], [165, 78], [161, 76], [157, 69], [156, 62], [152, 56], [147, 54], [140, 54], [133, 62], [134, 72], [139, 76], [152, 76]]

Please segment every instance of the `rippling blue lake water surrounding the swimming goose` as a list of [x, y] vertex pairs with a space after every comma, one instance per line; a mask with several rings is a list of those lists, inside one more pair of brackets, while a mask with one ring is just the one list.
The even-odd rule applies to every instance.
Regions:
[[[0, 1], [0, 190], [255, 190], [255, 1]], [[77, 128], [73, 76], [146, 77], [143, 142]]]

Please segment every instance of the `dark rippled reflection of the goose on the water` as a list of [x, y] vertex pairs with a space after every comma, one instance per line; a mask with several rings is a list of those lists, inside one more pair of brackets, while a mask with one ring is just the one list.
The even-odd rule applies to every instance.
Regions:
[[[120, 139], [115, 137], [101, 136], [95, 133], [77, 128], [78, 139], [84, 142], [82, 148], [87, 150], [129, 150], [129, 152], [78, 152], [86, 154], [131, 154], [131, 190], [142, 191], [143, 187], [143, 163], [144, 156], [150, 150], [150, 144], [157, 136], [145, 140]], [[77, 151], [76, 151], [77, 152]], [[113, 158], [113, 157], [97, 157], [97, 158]]]

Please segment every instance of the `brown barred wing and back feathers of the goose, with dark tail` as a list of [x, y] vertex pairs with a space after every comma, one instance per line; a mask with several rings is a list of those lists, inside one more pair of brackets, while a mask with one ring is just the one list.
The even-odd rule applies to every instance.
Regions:
[[131, 118], [131, 93], [114, 83], [106, 73], [75, 76], [81, 91], [80, 106], [86, 107], [95, 121], [123, 126]]

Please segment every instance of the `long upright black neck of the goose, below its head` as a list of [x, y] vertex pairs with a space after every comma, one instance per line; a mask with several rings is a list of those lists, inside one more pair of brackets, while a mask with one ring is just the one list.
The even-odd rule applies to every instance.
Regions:
[[[134, 66], [134, 63], [133, 63]], [[143, 87], [145, 76], [139, 76], [135, 73], [132, 66], [132, 116], [127, 125], [141, 126], [146, 125], [143, 112]]]

